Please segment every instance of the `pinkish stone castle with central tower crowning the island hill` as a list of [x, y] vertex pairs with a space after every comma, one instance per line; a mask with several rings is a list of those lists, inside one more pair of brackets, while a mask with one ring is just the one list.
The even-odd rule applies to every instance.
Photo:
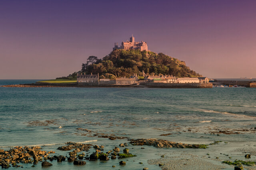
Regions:
[[127, 41], [127, 40], [126, 40], [126, 42], [122, 41], [122, 45], [120, 47], [118, 47], [118, 43], [115, 43], [113, 51], [115, 49], [125, 49], [125, 50], [140, 49], [140, 51], [144, 51], [144, 50], [148, 51], [148, 45], [144, 41], [135, 42], [134, 41], [134, 36], [132, 35], [132, 37], [130, 37], [130, 41]]

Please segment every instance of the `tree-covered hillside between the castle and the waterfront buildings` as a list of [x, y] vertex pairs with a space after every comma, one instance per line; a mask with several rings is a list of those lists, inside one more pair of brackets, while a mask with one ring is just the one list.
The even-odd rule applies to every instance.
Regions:
[[86, 64], [82, 64], [82, 72], [86, 74], [114, 74], [131, 76], [140, 74], [170, 74], [176, 77], [198, 77], [200, 74], [190, 70], [184, 61], [169, 57], [163, 53], [140, 50], [114, 50], [103, 59], [90, 56]]

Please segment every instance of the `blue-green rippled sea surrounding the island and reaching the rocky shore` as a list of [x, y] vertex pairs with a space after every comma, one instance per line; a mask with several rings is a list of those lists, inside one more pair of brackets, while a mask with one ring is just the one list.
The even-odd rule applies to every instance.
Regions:
[[[0, 86], [36, 81], [0, 80]], [[197, 156], [208, 152], [219, 155], [223, 150], [230, 152], [237, 146], [255, 142], [254, 127], [256, 129], [256, 88], [0, 87], [0, 149], [4, 150], [14, 146], [41, 146], [42, 150], [56, 151], [52, 155], [68, 156], [68, 151], [57, 148], [69, 141], [103, 145], [104, 152], [119, 147], [120, 143], [129, 143], [127, 139], [109, 140], [94, 134], [188, 144], [226, 141], [208, 149], [153, 146], [141, 149], [142, 146], [128, 145], [130, 153], [137, 156], [124, 158], [126, 166], [119, 165], [120, 159], [86, 160], [82, 167], [55, 160], [51, 162], [53, 166], [46, 169], [161, 169], [148, 160], [174, 151]], [[239, 134], [225, 135], [218, 133], [220, 130]], [[92, 152], [94, 149], [86, 154]], [[234, 155], [243, 159], [240, 157]], [[42, 169], [40, 163], [35, 167], [22, 165], [26, 169]]]

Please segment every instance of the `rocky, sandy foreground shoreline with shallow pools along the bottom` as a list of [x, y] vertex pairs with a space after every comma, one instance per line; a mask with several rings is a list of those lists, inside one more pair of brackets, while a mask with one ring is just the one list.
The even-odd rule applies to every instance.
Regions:
[[[228, 145], [230, 143], [215, 141], [207, 144], [206, 148], [200, 148], [191, 147], [197, 146], [194, 144], [154, 138], [115, 140], [110, 145], [106, 145], [106, 142], [104, 145], [104, 141], [88, 141], [86, 143], [66, 142], [53, 146], [16, 146], [0, 149], [0, 166], [2, 168], [33, 167], [39, 169], [49, 166], [61, 168], [66, 164], [74, 166], [74, 168], [104, 169], [102, 167], [104, 163], [105, 169], [119, 167], [125, 169], [204, 170], [233, 169], [235, 162], [238, 161], [238, 164], [244, 168], [255, 168], [256, 162], [253, 162], [255, 160], [251, 160], [250, 156], [255, 157], [256, 149], [253, 150], [254, 152], [251, 150], [252, 153], [250, 153], [246, 149], [250, 146], [248, 143], [246, 145], [242, 143]], [[250, 156], [246, 158], [248, 153]], [[6, 157], [6, 155], [9, 156]]]

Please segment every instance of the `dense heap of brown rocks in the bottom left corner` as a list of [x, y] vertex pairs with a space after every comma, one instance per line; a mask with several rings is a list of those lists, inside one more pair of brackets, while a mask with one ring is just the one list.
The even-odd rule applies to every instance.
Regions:
[[10, 164], [13, 167], [20, 167], [18, 163], [33, 163], [50, 158], [49, 154], [55, 153], [54, 151], [46, 152], [40, 150], [41, 147], [14, 147], [10, 150], [0, 149], [0, 166], [2, 168], [9, 168]]

